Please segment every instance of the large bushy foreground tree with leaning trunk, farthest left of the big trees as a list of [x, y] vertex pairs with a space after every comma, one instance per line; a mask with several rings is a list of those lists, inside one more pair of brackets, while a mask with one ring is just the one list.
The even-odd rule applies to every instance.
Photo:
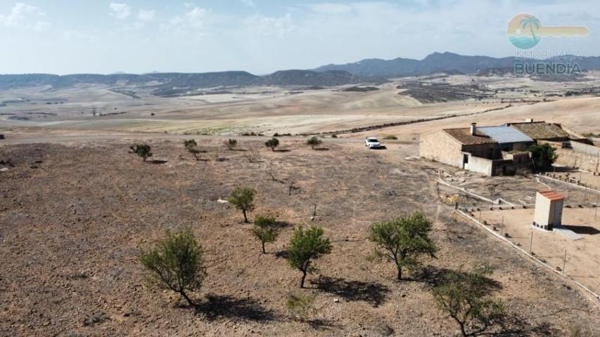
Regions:
[[148, 280], [164, 289], [179, 293], [194, 305], [188, 293], [199, 289], [205, 277], [202, 245], [191, 229], [167, 230], [166, 237], [140, 254], [141, 264], [151, 272]]

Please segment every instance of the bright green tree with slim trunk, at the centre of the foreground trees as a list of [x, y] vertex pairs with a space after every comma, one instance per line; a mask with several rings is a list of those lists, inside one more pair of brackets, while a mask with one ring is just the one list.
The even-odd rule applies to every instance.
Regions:
[[309, 272], [317, 270], [312, 261], [331, 252], [329, 239], [323, 237], [323, 229], [309, 227], [305, 230], [302, 226], [295, 228], [288, 249], [288, 263], [293, 269], [302, 272], [300, 288], [304, 288], [304, 281]]

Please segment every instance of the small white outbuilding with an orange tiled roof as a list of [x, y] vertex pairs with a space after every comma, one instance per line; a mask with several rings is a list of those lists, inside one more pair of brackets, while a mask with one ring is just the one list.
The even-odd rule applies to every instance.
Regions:
[[563, 220], [564, 201], [565, 197], [556, 191], [537, 192], [533, 225], [542, 230], [552, 230], [560, 226]]

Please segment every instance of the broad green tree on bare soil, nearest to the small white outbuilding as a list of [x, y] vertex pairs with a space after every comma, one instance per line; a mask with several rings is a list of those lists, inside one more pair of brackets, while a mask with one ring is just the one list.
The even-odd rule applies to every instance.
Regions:
[[421, 212], [371, 225], [369, 240], [377, 245], [377, 252], [396, 264], [397, 279], [402, 279], [402, 268], [419, 265], [419, 256], [435, 258], [437, 248], [429, 237], [431, 221]]

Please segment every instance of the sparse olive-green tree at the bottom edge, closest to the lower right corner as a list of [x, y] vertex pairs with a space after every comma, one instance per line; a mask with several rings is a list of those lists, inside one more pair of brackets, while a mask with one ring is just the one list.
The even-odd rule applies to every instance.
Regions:
[[459, 324], [462, 336], [476, 336], [504, 319], [502, 302], [488, 296], [493, 282], [487, 275], [492, 272], [485, 265], [472, 272], [452, 271], [433, 289], [439, 308]]

